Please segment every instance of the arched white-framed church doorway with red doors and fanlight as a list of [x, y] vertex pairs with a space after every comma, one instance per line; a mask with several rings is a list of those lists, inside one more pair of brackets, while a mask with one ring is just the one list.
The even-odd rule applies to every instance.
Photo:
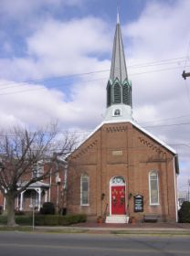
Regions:
[[126, 183], [122, 176], [114, 176], [110, 181], [110, 213], [126, 214]]

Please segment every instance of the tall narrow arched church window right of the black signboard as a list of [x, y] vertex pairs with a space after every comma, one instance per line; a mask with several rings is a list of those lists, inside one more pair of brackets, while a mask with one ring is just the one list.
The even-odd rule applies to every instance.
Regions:
[[149, 197], [150, 205], [159, 205], [158, 173], [156, 171], [149, 173]]

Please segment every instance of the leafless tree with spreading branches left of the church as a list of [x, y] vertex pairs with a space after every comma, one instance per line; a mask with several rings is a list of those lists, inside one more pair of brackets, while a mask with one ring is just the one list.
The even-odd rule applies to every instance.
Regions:
[[[58, 133], [56, 124], [28, 132], [20, 127], [0, 133], [0, 190], [6, 199], [7, 225], [15, 226], [15, 200], [31, 184], [52, 172], [57, 156], [67, 156], [74, 148], [74, 134]], [[46, 172], [33, 176], [33, 166], [43, 161]]]

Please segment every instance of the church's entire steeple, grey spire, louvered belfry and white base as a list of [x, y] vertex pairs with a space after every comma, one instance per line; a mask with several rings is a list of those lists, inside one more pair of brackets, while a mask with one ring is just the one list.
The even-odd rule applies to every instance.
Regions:
[[111, 74], [107, 85], [105, 121], [109, 120], [132, 120], [132, 83], [127, 75], [119, 11], [113, 41]]

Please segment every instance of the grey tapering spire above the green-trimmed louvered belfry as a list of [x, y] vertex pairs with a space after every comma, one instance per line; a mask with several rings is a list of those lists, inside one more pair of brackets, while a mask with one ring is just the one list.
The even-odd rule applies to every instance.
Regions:
[[123, 82], [128, 78], [127, 68], [125, 63], [124, 48], [121, 37], [121, 26], [120, 26], [120, 15], [119, 10], [117, 11], [117, 25], [115, 29], [115, 37], [112, 49], [112, 60], [111, 60], [111, 75], [110, 79], [114, 81], [116, 78]]

